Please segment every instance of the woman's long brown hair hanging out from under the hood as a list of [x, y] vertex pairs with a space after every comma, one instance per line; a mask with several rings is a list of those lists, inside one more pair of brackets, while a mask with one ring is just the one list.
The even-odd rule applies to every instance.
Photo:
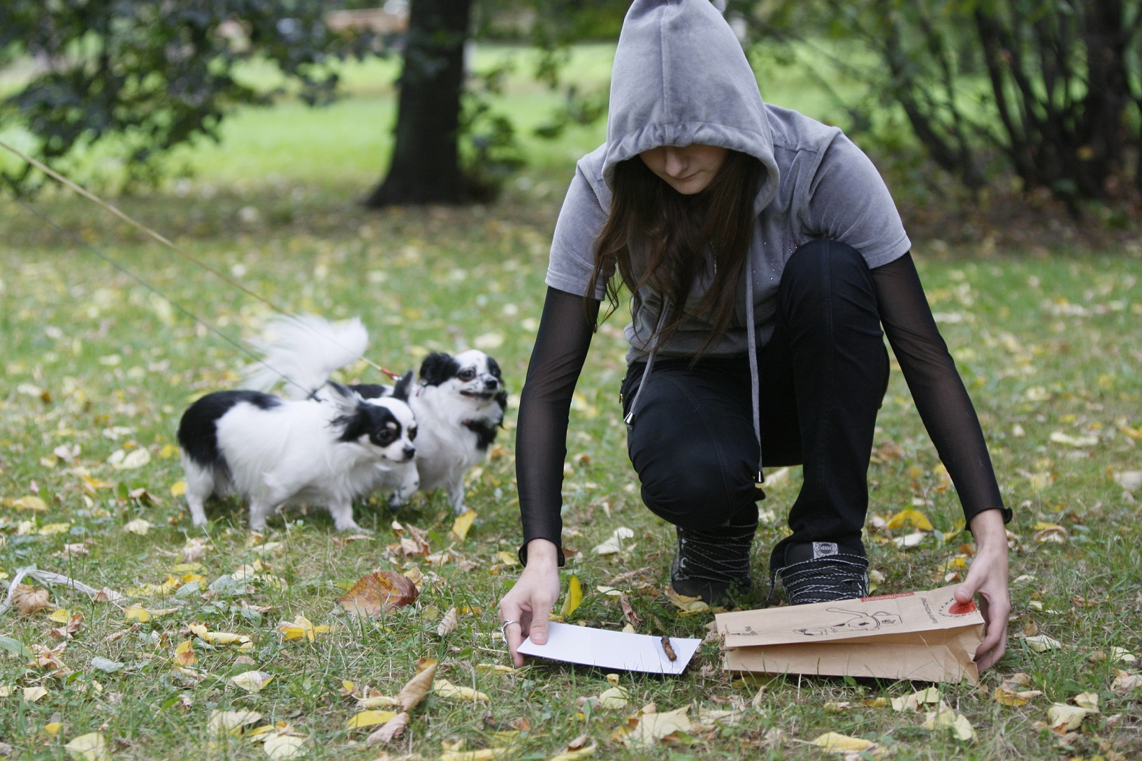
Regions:
[[[632, 293], [633, 315], [644, 306], [643, 286], [665, 301], [668, 313], [651, 337], [651, 350], [668, 341], [684, 322], [700, 317], [711, 326], [698, 351], [700, 357], [730, 329], [754, 229], [754, 196], [763, 172], [757, 159], [730, 151], [702, 192], [683, 195], [638, 156], [616, 164], [611, 210], [595, 243], [595, 273], [584, 294], [585, 303], [595, 298], [594, 283], [602, 273], [618, 270]], [[714, 280], [687, 310], [686, 299], [703, 274], [707, 250], [714, 256]], [[619, 306], [619, 283], [613, 277], [606, 283], [606, 300], [610, 315]]]

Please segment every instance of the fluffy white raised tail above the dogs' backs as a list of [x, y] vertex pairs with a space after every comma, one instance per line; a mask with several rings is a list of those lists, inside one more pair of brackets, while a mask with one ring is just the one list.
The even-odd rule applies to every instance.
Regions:
[[315, 315], [276, 317], [256, 342], [263, 362], [247, 366], [246, 388], [268, 391], [288, 379], [286, 396], [305, 398], [336, 370], [360, 359], [368, 343], [369, 331], [356, 317], [339, 323]]

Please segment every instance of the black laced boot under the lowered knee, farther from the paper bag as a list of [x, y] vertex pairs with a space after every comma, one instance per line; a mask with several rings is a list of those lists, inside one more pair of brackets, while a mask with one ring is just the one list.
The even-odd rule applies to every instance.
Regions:
[[670, 564], [670, 584], [686, 597], [724, 606], [749, 591], [749, 545], [756, 526], [697, 531], [677, 527], [678, 553]]

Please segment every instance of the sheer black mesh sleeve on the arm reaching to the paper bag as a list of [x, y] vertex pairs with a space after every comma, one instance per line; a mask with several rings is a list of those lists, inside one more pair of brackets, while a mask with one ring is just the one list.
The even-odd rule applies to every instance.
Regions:
[[1004, 507], [975, 408], [940, 335], [911, 253], [872, 269], [884, 332], [904, 372], [916, 410], [948, 469], [964, 517]]

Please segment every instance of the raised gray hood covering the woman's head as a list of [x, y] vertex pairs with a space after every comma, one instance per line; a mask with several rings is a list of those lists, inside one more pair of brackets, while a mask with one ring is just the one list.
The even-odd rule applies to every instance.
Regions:
[[746, 54], [709, 0], [635, 0], [622, 22], [611, 76], [603, 179], [614, 165], [664, 145], [740, 151], [765, 167], [754, 211], [779, 173], [765, 104]]

